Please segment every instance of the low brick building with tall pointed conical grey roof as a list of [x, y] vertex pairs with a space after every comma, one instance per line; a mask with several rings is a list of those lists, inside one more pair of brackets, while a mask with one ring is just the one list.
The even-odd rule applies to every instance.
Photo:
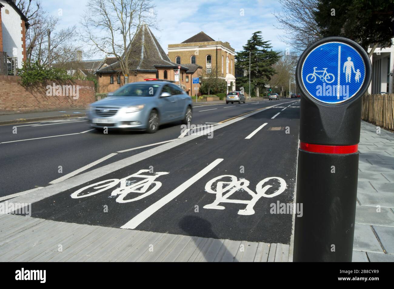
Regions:
[[[129, 53], [129, 83], [144, 79], [160, 79], [186, 85], [186, 72], [189, 68], [171, 62], [146, 24], [137, 29], [125, 53]], [[96, 75], [100, 93], [112, 92], [125, 83], [119, 61], [100, 68]]]

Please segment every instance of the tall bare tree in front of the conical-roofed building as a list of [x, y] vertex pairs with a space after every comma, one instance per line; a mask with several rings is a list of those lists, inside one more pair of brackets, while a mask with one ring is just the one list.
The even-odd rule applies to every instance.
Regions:
[[95, 53], [116, 57], [126, 83], [132, 39], [142, 24], [156, 28], [154, 7], [152, 0], [89, 0], [80, 21], [85, 42]]

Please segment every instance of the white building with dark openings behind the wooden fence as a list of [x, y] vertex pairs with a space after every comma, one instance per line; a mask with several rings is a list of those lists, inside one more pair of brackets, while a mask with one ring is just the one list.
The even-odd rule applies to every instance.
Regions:
[[[368, 49], [368, 52], [370, 51], [371, 48]], [[368, 88], [368, 93], [393, 93], [394, 45], [376, 48], [370, 59], [372, 63], [372, 81]]]

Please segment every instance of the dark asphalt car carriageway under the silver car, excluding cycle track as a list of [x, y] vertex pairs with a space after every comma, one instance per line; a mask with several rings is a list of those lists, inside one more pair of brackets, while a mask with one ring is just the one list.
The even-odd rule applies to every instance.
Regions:
[[[251, 101], [247, 102], [247, 105], [234, 103], [197, 106], [193, 109], [192, 123], [219, 122], [286, 101], [290, 99]], [[119, 131], [109, 131], [108, 134], [97, 131], [82, 133], [91, 129], [85, 118], [2, 125], [0, 126], [0, 163], [2, 164], [0, 197], [35, 187], [48, 186], [52, 180], [111, 153], [177, 138], [181, 133], [180, 124], [177, 122], [163, 125], [155, 134]], [[13, 134], [13, 127], [17, 127], [17, 134]], [[63, 134], [72, 135], [58, 136]], [[48, 136], [57, 137], [43, 138]], [[28, 140], [32, 138], [39, 139]], [[26, 141], [10, 142], [15, 140]], [[118, 153], [90, 169], [135, 155], [143, 150], [145, 149]], [[62, 173], [58, 172], [59, 166], [62, 167]]]

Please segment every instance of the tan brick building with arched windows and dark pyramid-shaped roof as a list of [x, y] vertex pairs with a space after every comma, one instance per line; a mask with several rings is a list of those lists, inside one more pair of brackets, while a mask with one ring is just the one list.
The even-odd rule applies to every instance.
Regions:
[[203, 31], [179, 44], [168, 45], [171, 61], [182, 66], [197, 64], [207, 73], [215, 73], [227, 82], [227, 92], [235, 90], [234, 55], [235, 50], [229, 42], [215, 41]]

